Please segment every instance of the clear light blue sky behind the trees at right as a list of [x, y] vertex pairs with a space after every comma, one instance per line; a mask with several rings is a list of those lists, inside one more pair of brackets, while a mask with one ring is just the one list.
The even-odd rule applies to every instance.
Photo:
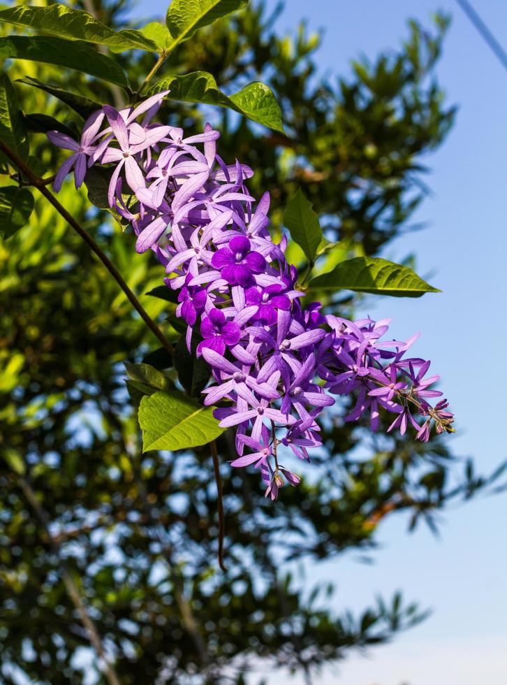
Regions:
[[[507, 46], [507, 2], [474, 3]], [[162, 15], [165, 7], [145, 0], [139, 13]], [[433, 360], [457, 414], [454, 452], [474, 456], [487, 473], [507, 456], [499, 375], [507, 340], [507, 73], [454, 0], [288, 0], [278, 27], [293, 29], [302, 17], [310, 28], [325, 27], [321, 69], [346, 74], [351, 58], [396, 47], [409, 17], [428, 22], [437, 9], [453, 15], [438, 73], [460, 110], [446, 143], [425, 160], [433, 194], [416, 219], [427, 229], [397, 240], [384, 256], [415, 252], [418, 273], [434, 274], [432, 283], [443, 293], [383, 298], [373, 311], [392, 317], [397, 338], [421, 331], [414, 350]], [[424, 528], [408, 535], [406, 521], [394, 519], [381, 528], [374, 565], [351, 554], [312, 570], [314, 578], [336, 582], [337, 610], [360, 610], [377, 593], [390, 596], [396, 589], [434, 609], [392, 644], [326, 671], [320, 685], [506, 685], [506, 509], [506, 495], [454, 507], [443, 518], [440, 539]], [[302, 681], [277, 675], [268, 682]]]

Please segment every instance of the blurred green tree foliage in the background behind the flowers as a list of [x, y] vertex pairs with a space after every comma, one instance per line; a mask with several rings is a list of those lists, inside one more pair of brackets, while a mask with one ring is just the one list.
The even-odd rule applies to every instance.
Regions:
[[[112, 27], [133, 15], [129, 0], [69, 4], [94, 10]], [[340, 241], [318, 264], [328, 271], [346, 255], [379, 254], [411, 229], [425, 195], [426, 155], [441, 145], [455, 115], [435, 73], [447, 20], [411, 22], [404, 43], [371, 64], [354, 63], [344, 80], [316, 71], [319, 36], [304, 24], [279, 36], [273, 19], [253, 2], [184, 43], [164, 69], [210, 71], [225, 92], [261, 78], [277, 94], [287, 136], [189, 104], [166, 103], [160, 115], [188, 131], [210, 117], [219, 125], [223, 159], [237, 157], [256, 170], [252, 194], [270, 191], [274, 231], [287, 199], [302, 187], [326, 236]], [[154, 58], [116, 59], [141, 81]], [[13, 80], [65, 83], [103, 103], [122, 98], [77, 72], [21, 61], [8, 71]], [[57, 99], [16, 87], [25, 113], [80, 126]], [[43, 134], [32, 136], [31, 150], [43, 168], [61, 161]], [[146, 295], [163, 277], [155, 259], [135, 254], [133, 236], [92, 208], [84, 189], [75, 192], [68, 182], [60, 200], [176, 340], [167, 321], [172, 305]], [[299, 248], [289, 250], [304, 268]], [[358, 296], [338, 301], [350, 316]], [[384, 305], [388, 313], [388, 300]], [[226, 463], [233, 444], [225, 433], [219, 452], [228, 572], [221, 572], [210, 454], [141, 452], [122, 362], [150, 354], [156, 366], [157, 347], [108, 272], [37, 198], [29, 225], [0, 244], [2, 682], [22, 682], [20, 673], [37, 684], [106, 682], [66, 591], [66, 573], [122, 684], [239, 685], [249, 670], [249, 682], [258, 682], [256, 665], [266, 663], [260, 660], [300, 670], [311, 683], [321, 665], [349, 649], [385, 642], [420, 621], [425, 612], [401, 596], [378, 600], [359, 616], [335, 615], [325, 608], [332, 584], [312, 589], [309, 580], [291, 577], [286, 562], [308, 569], [351, 548], [373, 549], [381, 521], [401, 511], [409, 512], [411, 528], [420, 519], [435, 528], [450, 500], [487, 488], [499, 472], [479, 477], [465, 463], [458, 478], [459, 460], [440, 440], [372, 436], [367, 426], [329, 412], [324, 447], [302, 469], [302, 484], [271, 503], [258, 473]]]

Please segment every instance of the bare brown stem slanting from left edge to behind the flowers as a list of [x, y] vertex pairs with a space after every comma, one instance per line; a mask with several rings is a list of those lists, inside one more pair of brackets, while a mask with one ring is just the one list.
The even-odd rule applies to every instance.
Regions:
[[128, 301], [131, 303], [133, 308], [138, 312], [140, 315], [141, 319], [145, 322], [145, 324], [148, 326], [149, 330], [154, 333], [154, 336], [158, 338], [163, 345], [163, 347], [172, 355], [174, 354], [174, 347], [170, 344], [169, 340], [166, 339], [166, 337], [163, 335], [162, 331], [159, 329], [159, 326], [156, 325], [154, 320], [148, 315], [146, 312], [145, 308], [142, 307], [140, 301], [138, 298], [133, 294], [131, 289], [128, 287], [126, 284], [124, 278], [122, 277], [122, 274], [119, 273], [117, 268], [115, 267], [114, 264], [112, 264], [112, 261], [109, 259], [108, 255], [103, 252], [101, 247], [99, 247], [98, 243], [92, 238], [87, 231], [85, 231], [80, 224], [74, 219], [74, 217], [69, 214], [69, 212], [64, 208], [61, 203], [56, 199], [56, 197], [52, 194], [50, 190], [45, 187], [45, 180], [42, 178], [39, 178], [36, 174], [34, 174], [31, 169], [24, 164], [24, 161], [20, 159], [20, 157], [17, 156], [17, 154], [6, 145], [3, 140], [0, 140], [0, 150], [6, 156], [10, 159], [10, 161], [13, 162], [15, 166], [27, 177], [27, 179], [31, 182], [31, 185], [36, 187], [38, 192], [40, 192], [45, 199], [47, 199], [48, 202], [52, 204], [52, 206], [59, 212], [59, 214], [64, 217], [66, 222], [72, 226], [72, 228], [75, 230], [76, 233], [79, 234], [79, 236], [84, 240], [89, 247], [91, 247], [91, 250], [95, 252], [97, 255], [98, 259], [101, 260], [105, 268], [108, 269], [109, 273], [112, 275], [112, 277], [116, 280], [117, 284], [119, 287], [124, 291], [126, 294], [126, 297], [128, 298]]

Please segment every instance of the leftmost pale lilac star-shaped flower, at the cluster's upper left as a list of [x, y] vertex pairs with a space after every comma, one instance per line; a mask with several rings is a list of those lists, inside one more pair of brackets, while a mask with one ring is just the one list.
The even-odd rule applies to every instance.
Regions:
[[84, 122], [79, 143], [70, 136], [61, 134], [59, 131], [49, 131], [47, 134], [47, 137], [54, 145], [64, 147], [66, 150], [73, 150], [74, 153], [71, 154], [71, 157], [68, 157], [59, 168], [53, 183], [55, 192], [59, 192], [61, 184], [64, 182], [64, 178], [73, 167], [75, 187], [79, 188], [82, 185], [84, 176], [87, 173], [88, 159], [96, 150], [93, 143], [96, 140], [98, 129], [101, 128], [103, 118], [104, 114], [101, 110], [88, 117], [86, 122]]

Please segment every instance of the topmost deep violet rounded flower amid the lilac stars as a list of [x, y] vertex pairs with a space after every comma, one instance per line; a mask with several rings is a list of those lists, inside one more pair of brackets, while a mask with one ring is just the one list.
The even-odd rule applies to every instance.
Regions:
[[212, 266], [220, 270], [223, 280], [230, 285], [248, 287], [254, 273], [262, 273], [266, 260], [259, 252], [251, 251], [250, 240], [236, 236], [227, 247], [221, 247], [212, 257]]

